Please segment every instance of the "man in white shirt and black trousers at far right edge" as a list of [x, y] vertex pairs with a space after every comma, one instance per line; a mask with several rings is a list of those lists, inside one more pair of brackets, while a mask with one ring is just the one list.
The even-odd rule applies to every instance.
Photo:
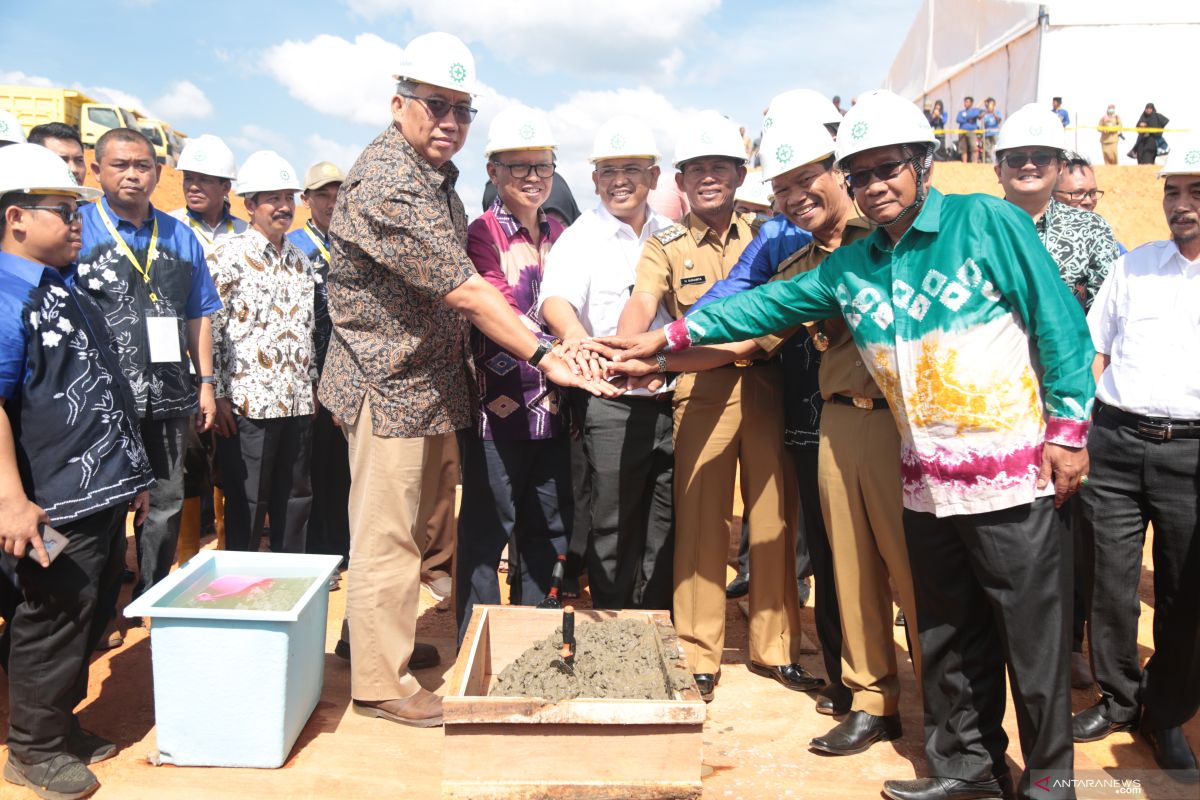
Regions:
[[[1170, 241], [1127, 253], [1087, 323], [1096, 345], [1091, 475], [1096, 528], [1092, 667], [1103, 694], [1075, 741], [1141, 732], [1159, 766], [1200, 781], [1182, 726], [1200, 709], [1200, 139], [1172, 150], [1163, 211]], [[1154, 527], [1154, 655], [1141, 669], [1138, 582]]]

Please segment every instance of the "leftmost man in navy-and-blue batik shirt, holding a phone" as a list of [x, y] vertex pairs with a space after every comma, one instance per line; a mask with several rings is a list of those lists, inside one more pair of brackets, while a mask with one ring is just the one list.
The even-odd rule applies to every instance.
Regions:
[[0, 152], [4, 776], [42, 798], [91, 794], [88, 764], [116, 753], [74, 708], [120, 590], [126, 512], [145, 517], [154, 483], [116, 349], [73, 265], [77, 203], [95, 194], [41, 145]]

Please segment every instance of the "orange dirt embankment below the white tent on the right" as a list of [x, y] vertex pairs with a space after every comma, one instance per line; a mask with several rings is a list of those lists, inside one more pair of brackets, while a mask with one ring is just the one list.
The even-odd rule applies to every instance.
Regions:
[[[1102, 164], [1094, 169], [1096, 182], [1104, 190], [1096, 212], [1109, 221], [1118, 242], [1133, 249], [1170, 236], [1163, 216], [1163, 181], [1157, 178], [1158, 167]], [[946, 194], [1003, 196], [990, 164], [938, 162], [934, 164], [934, 186]]]

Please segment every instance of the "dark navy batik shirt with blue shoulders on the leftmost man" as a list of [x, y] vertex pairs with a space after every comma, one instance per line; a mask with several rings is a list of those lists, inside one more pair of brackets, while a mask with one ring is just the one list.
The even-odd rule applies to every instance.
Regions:
[[0, 253], [0, 397], [25, 493], [50, 524], [154, 485], [104, 317], [73, 270]]

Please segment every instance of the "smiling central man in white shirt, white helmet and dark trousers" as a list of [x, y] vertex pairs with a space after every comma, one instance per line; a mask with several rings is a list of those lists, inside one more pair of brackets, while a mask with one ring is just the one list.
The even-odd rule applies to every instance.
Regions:
[[[647, 196], [659, 180], [654, 133], [614, 118], [596, 131], [590, 160], [600, 205], [586, 211], [546, 258], [539, 318], [569, 349], [617, 332], [642, 245], [671, 219]], [[654, 327], [670, 321], [660, 308]], [[671, 608], [674, 515], [671, 391], [661, 379], [612, 399], [578, 393], [572, 411], [592, 479], [586, 564], [598, 608]]]

